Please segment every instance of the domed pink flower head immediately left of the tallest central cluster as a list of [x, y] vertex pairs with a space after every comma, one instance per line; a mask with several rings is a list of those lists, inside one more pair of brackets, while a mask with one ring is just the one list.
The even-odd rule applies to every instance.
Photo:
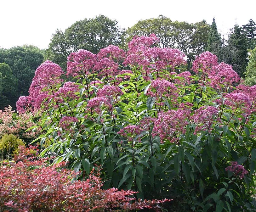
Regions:
[[97, 54], [99, 59], [108, 58], [110, 60], [121, 60], [125, 57], [125, 52], [120, 49], [118, 46], [109, 45], [105, 48], [100, 49], [100, 52]]

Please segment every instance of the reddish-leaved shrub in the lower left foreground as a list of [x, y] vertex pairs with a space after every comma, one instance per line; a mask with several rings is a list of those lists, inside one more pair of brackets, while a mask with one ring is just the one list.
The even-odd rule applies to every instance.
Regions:
[[87, 180], [77, 181], [81, 173], [65, 169], [64, 162], [48, 166], [46, 158], [31, 157], [31, 149], [20, 150], [16, 162], [0, 167], [0, 211], [159, 211], [159, 203], [170, 201], [130, 203], [135, 200], [134, 191], [101, 189], [100, 169], [93, 170]]

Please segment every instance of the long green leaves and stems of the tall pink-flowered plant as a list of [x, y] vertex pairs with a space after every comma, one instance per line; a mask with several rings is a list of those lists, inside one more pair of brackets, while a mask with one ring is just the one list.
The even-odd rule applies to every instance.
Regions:
[[[128, 74], [130, 79], [118, 85], [124, 94], [113, 102], [111, 111], [102, 106], [100, 113], [94, 113], [86, 107], [88, 97], [93, 98], [103, 86], [85, 89], [95, 75], [78, 76], [79, 100], [56, 104], [51, 99], [50, 108], [38, 123], [46, 133], [34, 141], [40, 140], [44, 148], [46, 139], [51, 140], [52, 144], [41, 154], [55, 152], [54, 163], [69, 161], [69, 168], [84, 170], [87, 175], [98, 164], [103, 169], [105, 188], [133, 189], [139, 191], [137, 197], [142, 199], [173, 198], [175, 202], [183, 203], [179, 205], [179, 211], [233, 212], [241, 211], [241, 207], [253, 210], [255, 203], [251, 195], [255, 193], [252, 188], [255, 187], [256, 167], [253, 126], [256, 116], [244, 117], [242, 107], [233, 110], [222, 103], [218, 114], [221, 124], [216, 120], [209, 129], [195, 133], [198, 123], [188, 117], [191, 122], [185, 133], [177, 133], [177, 142], [160, 142], [158, 136], [152, 136], [153, 126], [134, 137], [129, 134], [127, 139], [118, 134], [124, 126], [138, 126], [146, 117], [157, 117], [160, 110], [176, 110], [181, 103], [192, 103], [193, 114], [200, 107], [218, 107], [216, 99], [220, 103], [225, 101], [225, 97], [213, 88], [196, 84], [199, 77], [193, 76], [195, 83], [179, 85], [178, 105], [169, 98], [163, 98], [159, 104], [146, 95], [150, 81], [142, 78], [138, 67], [132, 71], [133, 74]], [[151, 77], [155, 79], [156, 76], [152, 74]], [[176, 79], [175, 75], [171, 78], [171, 81]], [[101, 80], [105, 82], [105, 78]], [[227, 88], [222, 87], [221, 92], [225, 91]], [[61, 116], [73, 116], [79, 121], [62, 129], [59, 125]], [[225, 170], [230, 161], [237, 161], [249, 170], [244, 180]], [[169, 211], [174, 209], [175, 205]]]

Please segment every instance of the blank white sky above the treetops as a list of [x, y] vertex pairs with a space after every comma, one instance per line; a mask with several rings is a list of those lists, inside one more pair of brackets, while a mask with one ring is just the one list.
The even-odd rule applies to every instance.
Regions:
[[0, 0], [0, 47], [46, 48], [56, 29], [99, 14], [126, 29], [159, 14], [188, 23], [205, 19], [208, 24], [214, 16], [219, 32], [225, 34], [236, 22], [256, 22], [255, 8], [255, 0]]

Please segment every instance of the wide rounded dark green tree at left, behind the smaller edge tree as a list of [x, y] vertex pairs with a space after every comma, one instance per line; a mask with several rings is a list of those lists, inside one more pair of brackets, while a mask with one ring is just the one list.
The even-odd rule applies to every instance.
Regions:
[[43, 53], [43, 50], [35, 46], [0, 49], [0, 63], [8, 64], [18, 79], [17, 97], [28, 95], [35, 70], [43, 62]]

